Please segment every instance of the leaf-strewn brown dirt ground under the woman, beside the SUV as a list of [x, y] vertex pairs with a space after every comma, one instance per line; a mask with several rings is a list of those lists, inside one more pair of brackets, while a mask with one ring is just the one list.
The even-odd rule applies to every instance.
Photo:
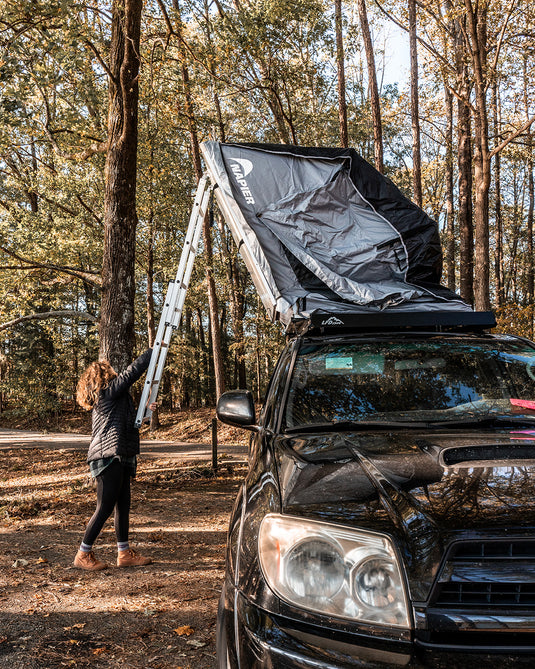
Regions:
[[111, 521], [97, 573], [72, 560], [94, 511], [85, 453], [0, 453], [0, 668], [210, 669], [232, 504], [245, 466], [141, 459], [131, 545], [118, 569]]

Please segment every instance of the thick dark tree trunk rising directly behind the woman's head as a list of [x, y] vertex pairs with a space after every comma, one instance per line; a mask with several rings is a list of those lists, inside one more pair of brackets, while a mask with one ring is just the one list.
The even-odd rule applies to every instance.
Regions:
[[141, 7], [141, 0], [114, 0], [112, 6], [100, 356], [117, 371], [127, 367], [134, 349]]

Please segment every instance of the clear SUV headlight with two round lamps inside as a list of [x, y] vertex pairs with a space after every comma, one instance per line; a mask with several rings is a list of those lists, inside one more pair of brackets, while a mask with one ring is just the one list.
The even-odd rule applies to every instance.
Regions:
[[360, 622], [410, 627], [388, 537], [269, 514], [260, 525], [258, 548], [268, 585], [286, 602]]

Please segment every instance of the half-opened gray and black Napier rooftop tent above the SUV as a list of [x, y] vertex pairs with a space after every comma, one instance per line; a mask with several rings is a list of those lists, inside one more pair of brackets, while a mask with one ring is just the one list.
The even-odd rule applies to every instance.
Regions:
[[202, 144], [272, 318], [471, 311], [440, 286], [438, 227], [352, 149]]

